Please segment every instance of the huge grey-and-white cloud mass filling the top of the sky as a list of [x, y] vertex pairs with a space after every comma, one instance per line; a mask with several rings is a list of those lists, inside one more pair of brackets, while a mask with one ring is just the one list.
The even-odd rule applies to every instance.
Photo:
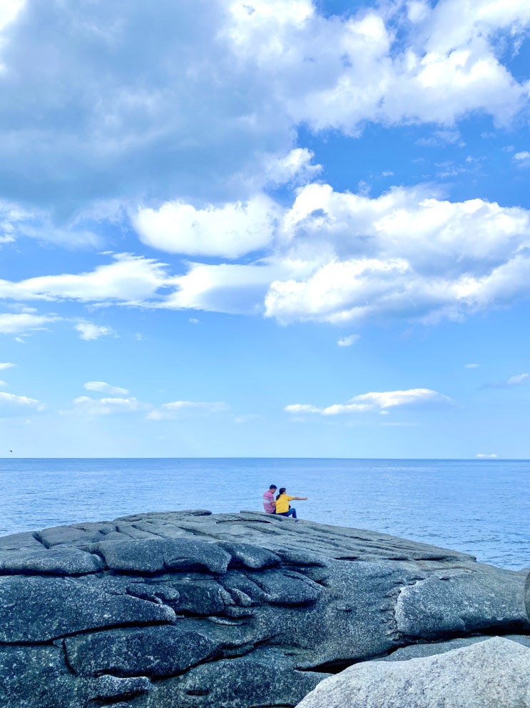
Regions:
[[175, 194], [244, 201], [257, 174], [307, 168], [290, 153], [302, 123], [358, 134], [367, 121], [452, 126], [484, 111], [506, 124], [528, 105], [498, 51], [499, 38], [515, 51], [524, 37], [526, 0], [394, 1], [347, 16], [310, 0], [160, 0], [156, 13], [27, 0], [7, 16], [0, 192], [58, 224], [109, 199], [153, 198], [155, 213]]

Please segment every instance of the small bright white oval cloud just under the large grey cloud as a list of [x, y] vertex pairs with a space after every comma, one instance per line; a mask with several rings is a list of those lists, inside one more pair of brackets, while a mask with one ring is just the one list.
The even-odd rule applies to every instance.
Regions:
[[246, 204], [205, 209], [173, 202], [158, 210], [140, 209], [133, 223], [145, 244], [162, 251], [238, 258], [270, 244], [277, 211], [275, 202], [264, 195]]

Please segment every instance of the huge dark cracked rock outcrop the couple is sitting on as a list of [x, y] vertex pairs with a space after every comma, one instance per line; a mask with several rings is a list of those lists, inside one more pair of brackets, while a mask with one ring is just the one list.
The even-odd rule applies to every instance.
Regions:
[[0, 707], [294, 706], [328, 675], [398, 649], [524, 642], [525, 580], [257, 512], [16, 534], [0, 539]]

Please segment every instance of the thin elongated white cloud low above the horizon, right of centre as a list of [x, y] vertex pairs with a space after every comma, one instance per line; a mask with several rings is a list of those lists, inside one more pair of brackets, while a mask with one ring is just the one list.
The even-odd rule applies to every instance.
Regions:
[[444, 394], [432, 389], [408, 389], [406, 391], [370, 392], [354, 396], [347, 403], [318, 407], [312, 404], [290, 404], [285, 406], [287, 413], [318, 413], [323, 416], [336, 416], [348, 413], [388, 412], [397, 407], [439, 407], [452, 405], [453, 401]]

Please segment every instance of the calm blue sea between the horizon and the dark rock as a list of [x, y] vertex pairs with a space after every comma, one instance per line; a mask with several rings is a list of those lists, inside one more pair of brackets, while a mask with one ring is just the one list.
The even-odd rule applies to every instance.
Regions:
[[4, 459], [0, 535], [136, 512], [262, 510], [270, 484], [299, 517], [530, 567], [530, 461]]

